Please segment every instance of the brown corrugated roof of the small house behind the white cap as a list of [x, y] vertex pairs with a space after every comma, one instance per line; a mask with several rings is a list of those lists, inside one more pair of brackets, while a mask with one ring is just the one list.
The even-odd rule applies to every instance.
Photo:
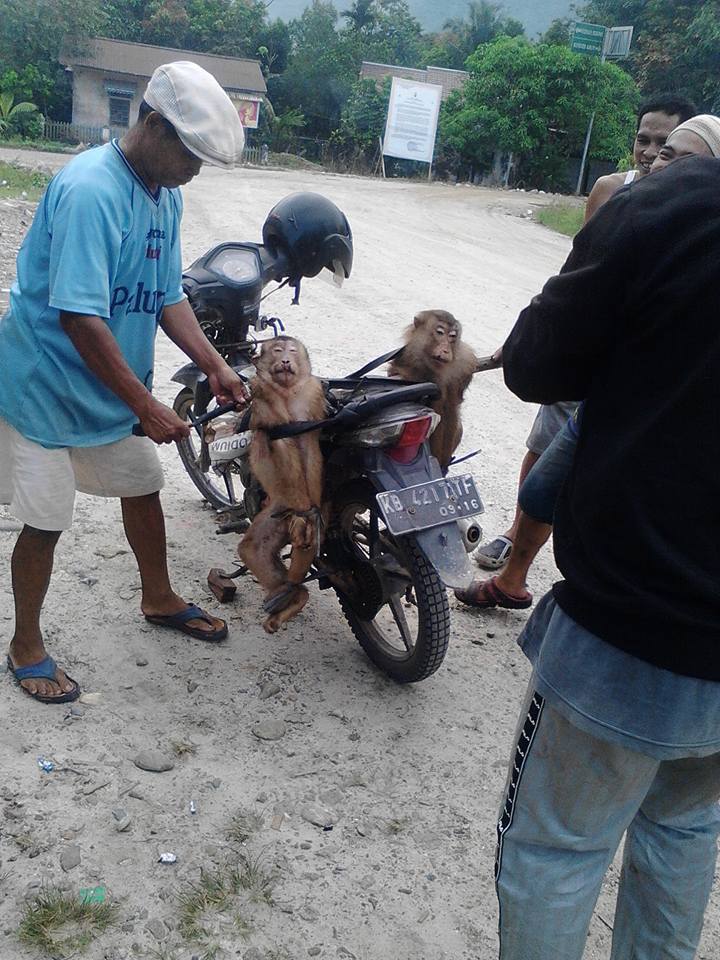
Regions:
[[194, 50], [154, 47], [146, 43], [128, 43], [126, 40], [96, 37], [87, 42], [81, 53], [64, 51], [60, 58], [60, 62], [68, 67], [91, 67], [108, 73], [147, 78], [156, 67], [173, 60], [197, 63], [211, 73], [226, 90], [253, 93], [265, 93], [267, 90], [258, 60], [219, 57], [213, 53], [196, 53]]

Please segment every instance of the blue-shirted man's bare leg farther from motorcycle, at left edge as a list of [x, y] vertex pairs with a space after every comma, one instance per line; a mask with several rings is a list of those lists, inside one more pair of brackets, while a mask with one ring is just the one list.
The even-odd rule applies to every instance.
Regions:
[[[47, 656], [40, 631], [40, 611], [50, 585], [55, 545], [60, 533], [23, 527], [13, 550], [12, 588], [15, 601], [15, 633], [10, 643], [10, 659], [15, 667], [29, 667]], [[29, 693], [43, 697], [70, 693], [74, 687], [62, 670], [52, 680], [22, 680]]]

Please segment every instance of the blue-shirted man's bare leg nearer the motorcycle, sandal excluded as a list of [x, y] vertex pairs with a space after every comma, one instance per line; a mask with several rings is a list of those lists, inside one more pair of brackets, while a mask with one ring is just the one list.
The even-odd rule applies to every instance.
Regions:
[[[165, 517], [160, 503], [160, 494], [123, 497], [120, 502], [125, 535], [135, 554], [140, 571], [142, 612], [150, 616], [180, 613], [187, 607], [187, 603], [170, 586]], [[199, 627], [207, 633], [213, 633], [223, 626], [224, 621], [216, 617], [211, 619], [212, 624], [205, 620], [189, 620], [188, 626]]]

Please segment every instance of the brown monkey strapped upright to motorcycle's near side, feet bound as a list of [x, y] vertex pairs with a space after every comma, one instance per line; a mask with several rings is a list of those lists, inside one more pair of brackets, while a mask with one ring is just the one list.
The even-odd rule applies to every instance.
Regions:
[[[250, 466], [267, 500], [238, 547], [266, 592], [263, 627], [275, 633], [308, 601], [300, 586], [320, 547], [323, 464], [318, 431], [270, 440], [283, 423], [321, 420], [325, 394], [312, 376], [307, 350], [293, 337], [266, 340], [252, 382]], [[292, 544], [290, 568], [280, 551]]]

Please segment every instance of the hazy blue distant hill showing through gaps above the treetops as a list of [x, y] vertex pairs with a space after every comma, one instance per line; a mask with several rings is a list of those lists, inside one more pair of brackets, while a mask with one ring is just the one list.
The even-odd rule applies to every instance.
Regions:
[[[333, 0], [338, 10], [347, 10], [349, 0]], [[542, 33], [557, 17], [570, 13], [571, 0], [504, 0], [505, 12], [525, 24], [529, 37]], [[309, 0], [272, 0], [268, 14], [271, 18], [292, 20], [299, 17]], [[409, 0], [409, 6], [425, 30], [439, 30], [446, 20], [462, 17], [467, 11], [467, 0]]]

